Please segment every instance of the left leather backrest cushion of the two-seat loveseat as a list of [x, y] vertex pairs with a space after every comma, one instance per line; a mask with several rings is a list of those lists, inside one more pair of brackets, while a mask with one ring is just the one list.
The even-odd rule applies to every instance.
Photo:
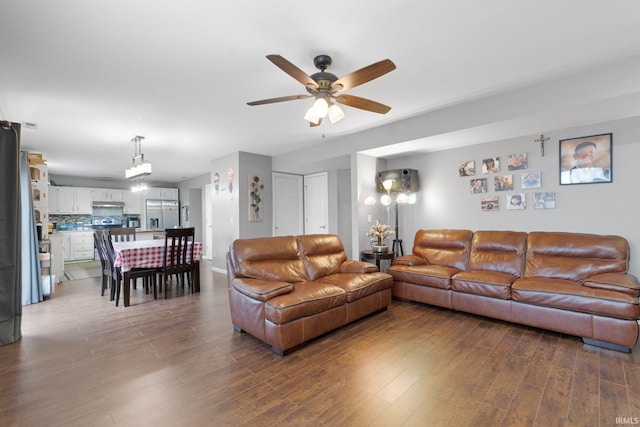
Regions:
[[229, 251], [238, 277], [290, 283], [308, 280], [294, 236], [238, 239]]

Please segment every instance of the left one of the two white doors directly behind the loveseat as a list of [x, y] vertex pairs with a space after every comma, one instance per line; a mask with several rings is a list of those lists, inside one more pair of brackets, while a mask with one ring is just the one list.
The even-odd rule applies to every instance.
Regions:
[[273, 235], [304, 234], [302, 176], [273, 173]]

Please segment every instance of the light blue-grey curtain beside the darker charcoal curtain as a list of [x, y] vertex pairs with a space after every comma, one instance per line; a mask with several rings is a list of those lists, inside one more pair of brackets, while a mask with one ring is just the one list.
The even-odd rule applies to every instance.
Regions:
[[29, 153], [20, 153], [20, 205], [22, 206], [22, 305], [41, 302], [42, 275], [38, 255], [38, 229], [31, 196], [31, 176], [29, 174]]

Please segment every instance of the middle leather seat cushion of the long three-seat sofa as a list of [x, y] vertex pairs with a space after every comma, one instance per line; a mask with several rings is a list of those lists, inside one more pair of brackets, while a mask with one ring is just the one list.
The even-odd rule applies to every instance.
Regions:
[[465, 294], [511, 299], [511, 284], [518, 277], [500, 271], [462, 271], [451, 279], [451, 289]]

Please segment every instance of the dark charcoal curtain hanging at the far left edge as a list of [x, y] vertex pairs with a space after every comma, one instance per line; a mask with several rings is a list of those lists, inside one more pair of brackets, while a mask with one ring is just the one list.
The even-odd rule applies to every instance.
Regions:
[[0, 122], [0, 344], [22, 338], [20, 124]]

